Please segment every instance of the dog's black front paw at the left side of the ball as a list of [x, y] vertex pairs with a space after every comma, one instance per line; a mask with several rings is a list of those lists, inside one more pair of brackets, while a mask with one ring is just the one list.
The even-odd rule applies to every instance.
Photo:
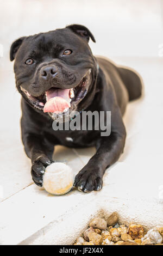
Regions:
[[45, 173], [45, 168], [49, 166], [52, 161], [47, 156], [39, 156], [37, 157], [33, 163], [31, 168], [32, 179], [37, 186], [42, 187], [43, 179], [42, 176]]

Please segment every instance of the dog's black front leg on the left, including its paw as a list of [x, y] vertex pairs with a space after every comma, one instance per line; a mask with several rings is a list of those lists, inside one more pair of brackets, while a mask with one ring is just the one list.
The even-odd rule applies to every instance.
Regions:
[[45, 168], [52, 163], [55, 138], [51, 142], [51, 138], [42, 133], [43, 123], [46, 122], [39, 123], [39, 120], [35, 120], [34, 113], [30, 114], [28, 108], [26, 107], [26, 115], [23, 114], [21, 118], [22, 142], [26, 154], [32, 162], [32, 179], [36, 185], [42, 186]]

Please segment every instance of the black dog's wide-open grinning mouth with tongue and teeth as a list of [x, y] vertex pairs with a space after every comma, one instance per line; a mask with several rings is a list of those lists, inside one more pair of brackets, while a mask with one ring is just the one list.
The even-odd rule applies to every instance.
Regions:
[[77, 105], [86, 95], [91, 83], [91, 69], [82, 78], [78, 86], [70, 89], [60, 89], [51, 87], [40, 96], [34, 97], [27, 90], [22, 92], [26, 95], [29, 102], [37, 109], [48, 113], [66, 113], [72, 105]]

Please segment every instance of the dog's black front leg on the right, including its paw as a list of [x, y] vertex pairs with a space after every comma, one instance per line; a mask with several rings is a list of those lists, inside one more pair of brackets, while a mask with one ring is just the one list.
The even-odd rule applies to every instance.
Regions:
[[74, 186], [80, 191], [101, 190], [105, 169], [115, 163], [123, 152], [126, 129], [120, 111], [118, 110], [115, 114], [112, 118], [110, 136], [101, 137], [98, 140], [96, 154], [75, 178]]

